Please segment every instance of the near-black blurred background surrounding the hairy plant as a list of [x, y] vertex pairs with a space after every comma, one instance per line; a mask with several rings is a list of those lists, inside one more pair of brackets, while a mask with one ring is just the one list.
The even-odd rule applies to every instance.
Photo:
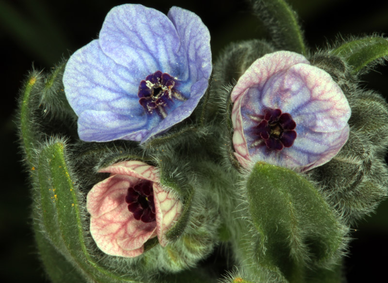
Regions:
[[[337, 35], [388, 32], [386, 0], [289, 0], [299, 14], [314, 50]], [[49, 70], [61, 58], [97, 38], [108, 11], [118, 0], [0, 0], [1, 197], [0, 278], [3, 282], [48, 282], [34, 248], [30, 186], [21, 166], [15, 108], [21, 82], [32, 65]], [[167, 13], [173, 5], [199, 15], [211, 34], [213, 58], [228, 42], [265, 36], [248, 5], [239, 0], [138, 1]], [[357, 3], [357, 4], [354, 4]], [[362, 77], [367, 88], [387, 97], [388, 66]], [[385, 278], [388, 260], [388, 201], [352, 233], [345, 268], [349, 282]]]

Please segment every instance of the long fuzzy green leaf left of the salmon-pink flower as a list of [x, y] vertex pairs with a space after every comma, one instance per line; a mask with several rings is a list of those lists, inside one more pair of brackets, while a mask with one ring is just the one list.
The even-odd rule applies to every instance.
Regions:
[[[64, 141], [51, 141], [40, 151], [39, 167], [36, 169], [38, 193], [34, 193], [34, 214], [38, 215], [34, 225], [39, 227], [36, 233], [42, 231], [52, 246], [55, 246], [73, 267], [80, 270], [88, 282], [138, 283], [128, 273], [117, 274], [100, 266], [86, 248], [81, 217], [82, 200], [71, 177], [72, 173], [67, 169], [65, 158]], [[43, 254], [52, 251], [41, 249], [40, 252]], [[59, 261], [62, 259], [58, 258]]]

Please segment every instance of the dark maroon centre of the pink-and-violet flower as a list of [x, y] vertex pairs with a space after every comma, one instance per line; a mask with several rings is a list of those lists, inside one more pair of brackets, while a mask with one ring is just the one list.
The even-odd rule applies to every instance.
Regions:
[[296, 123], [289, 113], [280, 109], [267, 108], [259, 115], [259, 125], [253, 127], [253, 134], [259, 139], [255, 145], [266, 145], [269, 150], [282, 150], [291, 147], [296, 138]]

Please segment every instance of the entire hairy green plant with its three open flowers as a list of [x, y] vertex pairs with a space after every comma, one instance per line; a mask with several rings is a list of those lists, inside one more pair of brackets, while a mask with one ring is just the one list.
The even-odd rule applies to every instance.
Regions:
[[250, 2], [271, 39], [214, 64], [197, 15], [124, 4], [30, 74], [20, 141], [53, 282], [344, 277], [349, 227], [388, 195], [388, 104], [359, 85], [388, 41], [312, 52], [285, 1]]

